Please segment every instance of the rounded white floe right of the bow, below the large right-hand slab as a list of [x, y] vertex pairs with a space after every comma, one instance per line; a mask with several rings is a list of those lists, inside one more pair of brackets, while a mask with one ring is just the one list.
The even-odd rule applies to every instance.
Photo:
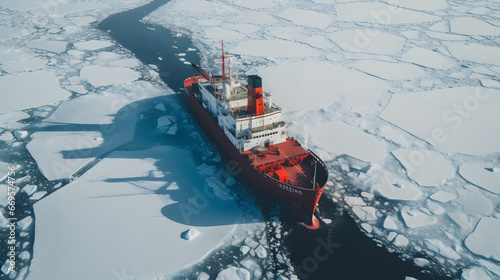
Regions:
[[436, 186], [455, 174], [444, 157], [428, 150], [395, 150], [392, 154], [406, 169], [408, 177], [421, 186]]

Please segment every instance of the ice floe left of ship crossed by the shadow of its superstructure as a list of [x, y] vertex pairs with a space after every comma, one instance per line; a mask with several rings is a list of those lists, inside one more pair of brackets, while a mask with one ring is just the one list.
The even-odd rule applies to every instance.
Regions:
[[131, 103], [163, 93], [138, 82], [68, 100], [42, 123], [44, 131], [31, 135], [26, 147], [47, 179], [68, 178], [95, 157], [132, 140], [141, 108]]

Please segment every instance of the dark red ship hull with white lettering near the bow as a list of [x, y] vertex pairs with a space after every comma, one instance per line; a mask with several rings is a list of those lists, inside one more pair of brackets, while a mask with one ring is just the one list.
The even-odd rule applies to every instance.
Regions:
[[220, 146], [224, 153], [231, 159], [237, 162], [238, 167], [235, 169], [241, 170], [241, 175], [250, 182], [250, 184], [277, 200], [285, 206], [295, 209], [299, 215], [298, 218], [304, 220], [307, 224], [312, 224], [310, 227], [317, 227], [318, 221], [314, 218], [314, 212], [318, 201], [323, 193], [328, 173], [324, 163], [312, 152], [310, 156], [320, 164], [317, 165], [317, 187], [316, 188], [301, 188], [292, 184], [281, 182], [273, 177], [263, 174], [256, 169], [248, 158], [233, 145], [227, 138], [219, 125], [212, 119], [211, 115], [203, 108], [193, 95], [194, 85], [201, 79], [201, 76], [191, 77], [184, 81], [186, 96], [190, 109], [194, 118], [199, 125], [207, 132], [216, 145]]

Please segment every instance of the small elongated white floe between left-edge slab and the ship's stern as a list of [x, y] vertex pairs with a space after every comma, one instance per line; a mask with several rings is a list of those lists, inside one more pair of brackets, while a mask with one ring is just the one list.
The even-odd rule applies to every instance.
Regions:
[[80, 77], [94, 87], [101, 87], [135, 81], [141, 73], [124, 67], [85, 66]]

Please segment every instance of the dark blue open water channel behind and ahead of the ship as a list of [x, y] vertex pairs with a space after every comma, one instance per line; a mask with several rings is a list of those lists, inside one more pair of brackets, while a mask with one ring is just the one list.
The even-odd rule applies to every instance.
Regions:
[[[179, 61], [177, 54], [186, 53], [184, 58], [187, 61], [199, 64], [199, 53], [186, 51], [188, 48], [194, 48], [189, 37], [178, 37], [174, 32], [164, 28], [140, 22], [147, 14], [167, 2], [168, 0], [156, 0], [137, 9], [112, 15], [101, 22], [99, 28], [109, 32], [113, 39], [132, 51], [143, 63], [158, 66], [163, 81], [174, 91], [180, 92], [183, 87], [182, 82], [193, 74], [193, 69], [190, 65]], [[163, 60], [159, 60], [158, 57], [162, 57]], [[187, 108], [183, 95], [173, 98], [177, 99], [182, 108]], [[270, 209], [275, 208], [275, 203], [259, 194], [255, 194], [253, 199], [259, 201], [264, 216], [269, 219], [272, 216]], [[282, 239], [284, 250], [289, 252], [300, 279], [403, 280], [406, 276], [419, 280], [455, 278], [425, 271], [414, 266], [411, 260], [403, 261], [397, 254], [389, 253], [385, 248], [377, 246], [359, 230], [347, 213], [340, 210], [327, 197], [323, 197], [320, 201], [319, 208], [320, 216], [331, 219], [332, 223], [323, 224], [315, 231], [298, 226], [286, 209], [282, 209], [279, 214], [283, 228], [290, 232]], [[273, 237], [273, 234], [268, 232], [270, 237]], [[215, 278], [223, 263], [232, 263], [232, 253], [239, 252], [237, 248], [216, 251], [193, 270], [207, 271]], [[226, 261], [221, 262], [221, 258], [226, 258]], [[276, 262], [276, 265], [267, 269], [276, 272], [283, 267]], [[194, 273], [189, 271], [184, 272], [182, 279], [191, 279], [193, 275]]]

